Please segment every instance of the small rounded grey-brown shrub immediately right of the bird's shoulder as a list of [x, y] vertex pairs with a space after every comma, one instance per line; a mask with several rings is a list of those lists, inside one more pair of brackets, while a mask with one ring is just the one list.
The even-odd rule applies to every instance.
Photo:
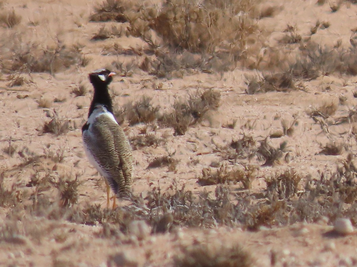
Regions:
[[144, 95], [134, 104], [129, 103], [125, 106], [126, 118], [129, 121], [129, 125], [135, 125], [140, 122], [149, 123], [156, 119], [160, 107], [153, 106], [151, 101], [151, 97]]

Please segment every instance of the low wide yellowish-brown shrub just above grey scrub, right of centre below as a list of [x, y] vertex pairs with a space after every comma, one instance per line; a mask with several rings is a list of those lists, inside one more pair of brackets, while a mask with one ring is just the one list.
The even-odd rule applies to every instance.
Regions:
[[221, 164], [218, 168], [202, 169], [202, 177], [197, 179], [200, 185], [213, 185], [223, 183], [242, 182], [244, 189], [250, 189], [252, 181], [256, 178], [256, 167], [244, 166], [243, 169], [232, 168], [228, 170], [227, 165]]

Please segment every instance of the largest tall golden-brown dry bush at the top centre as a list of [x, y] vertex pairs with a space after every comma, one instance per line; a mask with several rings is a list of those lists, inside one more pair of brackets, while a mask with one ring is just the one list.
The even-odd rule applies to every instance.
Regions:
[[[234, 4], [205, 1], [202, 8], [190, 1], [174, 0], [166, 2], [157, 13], [145, 11], [143, 17], [173, 48], [208, 53], [229, 48], [230, 52], [240, 54], [249, 41], [256, 41], [256, 37], [252, 38], [257, 33], [257, 25], [251, 18], [254, 4], [254, 1]], [[240, 11], [247, 13], [236, 16]]]

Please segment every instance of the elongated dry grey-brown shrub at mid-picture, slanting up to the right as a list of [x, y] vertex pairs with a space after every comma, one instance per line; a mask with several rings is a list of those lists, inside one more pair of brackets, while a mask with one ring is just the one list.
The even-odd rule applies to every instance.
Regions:
[[164, 125], [172, 127], [175, 135], [184, 135], [188, 127], [202, 122], [210, 110], [219, 106], [221, 92], [208, 89], [196, 94], [190, 94], [188, 100], [176, 99], [174, 111], [162, 117]]

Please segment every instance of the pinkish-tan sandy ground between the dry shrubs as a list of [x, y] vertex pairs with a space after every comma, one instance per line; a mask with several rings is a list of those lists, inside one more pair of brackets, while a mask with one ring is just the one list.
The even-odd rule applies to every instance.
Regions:
[[[49, 73], [25, 74], [28, 83], [20, 87], [9, 87], [9, 74], [0, 76], [0, 148], [12, 145], [16, 151], [30, 151], [43, 157], [40, 163], [22, 166], [24, 161], [18, 153], [9, 156], [0, 153], [0, 168], [4, 173], [7, 187], [16, 184], [23, 194], [23, 201], [31, 201], [31, 176], [36, 173], [66, 174], [80, 180], [78, 205], [87, 203], [106, 206], [105, 184], [96, 170], [89, 165], [81, 141], [81, 125], [86, 121], [92, 88], [87, 74], [97, 68], [111, 66], [121, 57], [103, 55], [104, 47], [117, 43], [123, 47], [140, 47], [142, 41], [134, 37], [115, 37], [104, 41], [91, 41], [100, 27], [116, 22], [89, 22], [93, 7], [101, 1], [7, 1], [4, 10], [14, 9], [22, 17], [13, 28], [0, 28], [0, 38], [10, 38], [20, 34], [22, 40], [36, 41], [39, 46], [50, 48], [56, 38], [61, 43], [80, 43], [82, 53], [90, 58], [85, 67], [71, 66], [69, 69], [51, 75]], [[287, 24], [296, 25], [297, 31], [306, 36], [317, 20], [330, 22], [330, 27], [318, 30], [311, 39], [317, 43], [333, 47], [338, 39], [343, 47], [350, 47], [351, 29], [357, 26], [357, 6], [346, 1], [337, 12], [331, 12], [327, 2], [317, 5], [316, 1], [270, 1], [278, 12], [273, 17], [261, 19], [258, 24], [270, 32], [266, 42], [275, 46]], [[4, 42], [2, 42], [4, 44]], [[296, 47], [292, 47], [296, 49]], [[5, 53], [0, 47], [0, 60]], [[302, 80], [304, 90], [268, 92], [248, 95], [247, 78], [256, 71], [236, 68], [223, 73], [202, 73], [185, 75], [183, 78], [157, 79], [152, 75], [134, 72], [130, 77], [115, 77], [110, 88], [118, 106], [140, 99], [142, 95], [152, 97], [155, 105], [162, 110], [169, 109], [175, 97], [187, 96], [197, 89], [213, 88], [221, 92], [220, 107], [210, 114], [210, 120], [190, 127], [183, 136], [174, 136], [171, 128], [159, 127], [157, 136], [164, 142], [157, 147], [141, 147], [134, 151], [135, 180], [133, 192], [145, 195], [154, 186], [162, 190], [173, 184], [185, 185], [199, 197], [203, 190], [214, 191], [216, 185], [201, 186], [197, 177], [202, 169], [221, 161], [215, 152], [215, 144], [222, 147], [243, 133], [256, 140], [281, 131], [281, 121], [298, 121], [292, 136], [272, 138], [273, 146], [288, 142], [288, 161], [282, 160], [272, 167], [260, 166], [252, 183], [252, 192], [261, 192], [265, 187], [265, 177], [276, 170], [293, 167], [306, 179], [320, 177], [320, 172], [333, 172], [340, 159], [346, 158], [348, 151], [356, 150], [353, 137], [353, 123], [332, 125], [328, 134], [306, 113], [326, 102], [337, 103], [336, 117], [345, 116], [357, 103], [353, 97], [357, 78], [347, 75], [320, 76], [313, 80]], [[87, 88], [84, 96], [75, 97], [71, 91], [82, 82]], [[159, 86], [158, 86], [159, 85]], [[326, 90], [326, 88], [329, 88]], [[158, 89], [158, 90], [157, 90]], [[343, 104], [341, 104], [343, 97]], [[40, 108], [41, 99], [48, 99], [49, 106]], [[55, 100], [60, 101], [55, 101]], [[65, 134], [42, 133], [46, 116], [57, 112], [61, 119], [69, 120], [71, 130]], [[234, 129], [223, 127], [236, 120]], [[135, 137], [144, 124], [124, 125], [127, 135]], [[150, 127], [149, 127], [150, 129]], [[321, 147], [330, 140], [347, 145], [341, 155], [321, 155]], [[1, 150], [1, 151], [2, 151]], [[347, 151], [348, 150], [348, 151]], [[27, 152], [26, 152], [27, 153]], [[52, 154], [51, 154], [52, 153]], [[51, 161], [48, 155], [63, 153], [60, 163]], [[158, 156], [174, 155], [176, 170], [167, 167], [147, 169], [152, 159]], [[194, 163], [193, 163], [194, 162]], [[238, 164], [258, 164], [242, 159]], [[239, 185], [231, 185], [232, 188]], [[239, 201], [239, 200], [238, 200]], [[24, 204], [24, 205], [25, 205]], [[125, 204], [122, 204], [125, 205]], [[0, 226], [4, 232], [9, 226], [11, 206], [0, 210]], [[15, 224], [16, 220], [11, 220]], [[250, 232], [241, 227], [217, 226], [177, 227], [165, 234], [147, 234], [143, 239], [135, 236], [102, 237], [101, 225], [70, 223], [66, 220], [49, 220], [24, 215], [17, 221], [25, 234], [0, 238], [0, 265], [2, 266], [172, 266], [180, 248], [195, 242], [240, 245], [251, 254], [252, 266], [355, 266], [357, 265], [357, 237], [352, 234], [338, 236], [330, 234], [331, 222], [321, 218], [315, 224], [297, 223], [289, 226], [261, 227]], [[27, 230], [26, 230], [27, 229]], [[21, 232], [21, 231], [20, 231]], [[217, 245], [218, 244], [218, 245]], [[217, 248], [219, 249], [219, 248]]]

